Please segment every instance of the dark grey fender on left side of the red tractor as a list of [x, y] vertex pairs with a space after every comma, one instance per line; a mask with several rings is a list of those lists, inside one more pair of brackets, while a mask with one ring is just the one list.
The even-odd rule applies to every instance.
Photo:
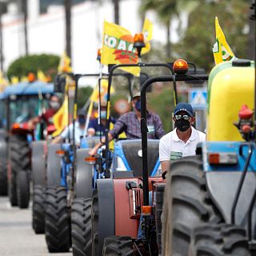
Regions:
[[114, 183], [111, 178], [97, 180], [98, 188], [98, 243], [99, 251], [102, 251], [104, 238], [114, 234]]

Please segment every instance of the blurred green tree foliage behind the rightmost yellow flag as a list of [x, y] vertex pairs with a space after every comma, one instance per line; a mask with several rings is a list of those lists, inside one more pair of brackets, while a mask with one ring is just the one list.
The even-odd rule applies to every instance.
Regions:
[[185, 58], [208, 72], [214, 66], [212, 46], [215, 42], [215, 17], [226, 36], [234, 54], [246, 58], [248, 35], [245, 26], [249, 22], [249, 5], [239, 1], [201, 1], [190, 13], [188, 26], [181, 40], [173, 46], [179, 58]]

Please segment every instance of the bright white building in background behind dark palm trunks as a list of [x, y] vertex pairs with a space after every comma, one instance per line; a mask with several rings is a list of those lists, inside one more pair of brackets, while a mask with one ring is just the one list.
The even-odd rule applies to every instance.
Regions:
[[[39, 0], [28, 0], [28, 50], [29, 54], [62, 55], [66, 46], [65, 10], [63, 6], [50, 6], [46, 14], [39, 14]], [[120, 1], [120, 25], [132, 34], [142, 31], [138, 14], [138, 0]], [[72, 7], [72, 66], [75, 73], [98, 72], [97, 50], [102, 45], [104, 19], [114, 22], [111, 1], [86, 1]], [[154, 23], [154, 38], [166, 42], [165, 28], [159, 25], [154, 14], [147, 15]], [[2, 39], [4, 70], [11, 62], [25, 54], [22, 17], [18, 16], [14, 3], [8, 13], [2, 15]], [[175, 24], [174, 24], [175, 26]], [[173, 30], [174, 31], [174, 30]], [[176, 38], [173, 33], [172, 40]]]

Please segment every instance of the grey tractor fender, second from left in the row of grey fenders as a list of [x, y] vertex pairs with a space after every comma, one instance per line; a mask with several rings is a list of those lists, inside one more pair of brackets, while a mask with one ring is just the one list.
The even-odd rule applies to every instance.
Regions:
[[47, 186], [61, 186], [61, 159], [57, 157], [56, 150], [60, 144], [50, 144], [47, 147], [46, 184]]

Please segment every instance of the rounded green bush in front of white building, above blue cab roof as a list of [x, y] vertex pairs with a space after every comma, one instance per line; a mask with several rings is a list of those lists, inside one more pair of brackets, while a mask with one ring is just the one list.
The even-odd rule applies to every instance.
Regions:
[[30, 72], [37, 74], [38, 70], [53, 78], [58, 73], [59, 57], [54, 54], [33, 54], [18, 58], [12, 62], [7, 70], [7, 77], [22, 78]]

